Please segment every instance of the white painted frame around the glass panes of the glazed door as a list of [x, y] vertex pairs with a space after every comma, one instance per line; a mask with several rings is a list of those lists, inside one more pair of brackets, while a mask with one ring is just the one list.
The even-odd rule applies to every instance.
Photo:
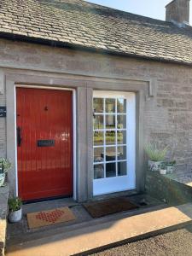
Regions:
[[[93, 179], [93, 195], [104, 195], [114, 192], [136, 189], [136, 94], [133, 92], [94, 90], [93, 98], [94, 97], [120, 97], [126, 99], [127, 175]], [[104, 148], [105, 147], [106, 145], [104, 143]]]

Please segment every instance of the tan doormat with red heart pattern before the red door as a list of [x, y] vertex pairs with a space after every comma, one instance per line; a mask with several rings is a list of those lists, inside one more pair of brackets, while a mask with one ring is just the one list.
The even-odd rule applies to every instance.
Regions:
[[30, 229], [74, 220], [75, 216], [68, 207], [61, 207], [44, 212], [27, 213], [26, 218]]

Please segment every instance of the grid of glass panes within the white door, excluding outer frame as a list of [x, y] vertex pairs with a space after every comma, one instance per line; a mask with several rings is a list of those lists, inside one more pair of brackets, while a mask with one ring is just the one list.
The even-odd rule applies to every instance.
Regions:
[[127, 102], [93, 99], [94, 179], [127, 175]]

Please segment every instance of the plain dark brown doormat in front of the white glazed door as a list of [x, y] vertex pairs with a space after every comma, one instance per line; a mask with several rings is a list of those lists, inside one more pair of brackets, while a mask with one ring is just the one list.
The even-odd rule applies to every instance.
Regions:
[[118, 197], [85, 203], [84, 208], [90, 213], [92, 218], [99, 218], [116, 212], [137, 209], [138, 207], [131, 203], [127, 197]]

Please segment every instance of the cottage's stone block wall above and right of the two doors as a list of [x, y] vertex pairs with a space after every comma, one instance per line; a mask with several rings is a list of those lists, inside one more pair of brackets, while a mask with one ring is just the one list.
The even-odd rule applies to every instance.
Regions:
[[[151, 82], [152, 96], [145, 90], [143, 102], [143, 143], [157, 141], [172, 148], [177, 172], [192, 167], [192, 68], [177, 64], [101, 55], [75, 49], [61, 49], [39, 44], [0, 41], [0, 70], [10, 73], [70, 74], [82, 81], [91, 78], [128, 79]], [[2, 79], [3, 79], [2, 76]], [[94, 84], [94, 83], [93, 83]], [[87, 88], [86, 82], [82, 87]], [[94, 89], [94, 86], [93, 86]], [[103, 85], [103, 90], [112, 87]], [[119, 90], [122, 90], [119, 84]], [[0, 95], [5, 103], [6, 91]], [[84, 105], [85, 106], [85, 105]], [[82, 107], [83, 108], [83, 107]], [[86, 107], [84, 107], [86, 108]], [[0, 119], [0, 155], [6, 155], [6, 120]], [[77, 124], [78, 125], [78, 124]]]

